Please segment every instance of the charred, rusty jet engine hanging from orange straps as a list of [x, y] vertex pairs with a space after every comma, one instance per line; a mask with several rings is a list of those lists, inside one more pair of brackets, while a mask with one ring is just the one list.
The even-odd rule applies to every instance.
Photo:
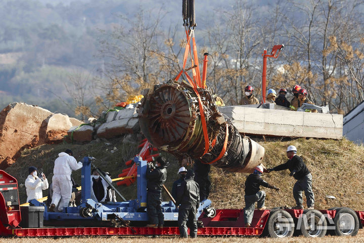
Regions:
[[224, 170], [250, 173], [261, 163], [264, 148], [242, 138], [229, 117], [218, 111], [215, 99], [210, 89], [194, 90], [185, 81], [155, 85], [139, 106], [141, 130], [153, 146], [179, 161], [201, 159]]

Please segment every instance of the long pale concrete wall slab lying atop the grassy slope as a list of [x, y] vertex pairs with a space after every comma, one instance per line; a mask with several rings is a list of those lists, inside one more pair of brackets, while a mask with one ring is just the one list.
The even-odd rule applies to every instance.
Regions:
[[342, 139], [343, 116], [243, 106], [219, 107], [240, 133]]

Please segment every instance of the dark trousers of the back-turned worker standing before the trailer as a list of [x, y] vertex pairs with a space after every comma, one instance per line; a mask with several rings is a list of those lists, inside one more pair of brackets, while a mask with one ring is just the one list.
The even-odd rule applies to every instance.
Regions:
[[187, 238], [187, 225], [190, 228], [190, 236], [197, 237], [196, 205], [180, 205], [178, 208], [178, 227], [181, 237]]

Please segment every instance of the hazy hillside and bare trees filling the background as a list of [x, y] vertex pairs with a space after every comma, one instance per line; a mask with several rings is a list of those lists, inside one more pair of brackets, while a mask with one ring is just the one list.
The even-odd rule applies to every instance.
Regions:
[[[186, 36], [181, 1], [0, 1], [0, 106], [26, 102], [80, 119], [173, 78]], [[345, 114], [364, 100], [362, 0], [196, 1], [199, 62], [226, 105], [244, 87], [309, 92], [316, 105]], [[201, 67], [202, 70], [202, 67]]]

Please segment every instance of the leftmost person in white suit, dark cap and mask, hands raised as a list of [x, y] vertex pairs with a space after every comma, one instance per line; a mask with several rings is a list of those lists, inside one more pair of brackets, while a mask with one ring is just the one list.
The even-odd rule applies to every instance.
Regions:
[[42, 173], [40, 178], [37, 176], [37, 168], [31, 166], [28, 168], [29, 176], [25, 180], [27, 192], [27, 203], [31, 199], [40, 199], [43, 197], [42, 190], [48, 189], [48, 180]]

